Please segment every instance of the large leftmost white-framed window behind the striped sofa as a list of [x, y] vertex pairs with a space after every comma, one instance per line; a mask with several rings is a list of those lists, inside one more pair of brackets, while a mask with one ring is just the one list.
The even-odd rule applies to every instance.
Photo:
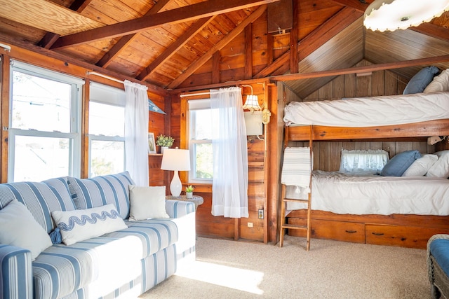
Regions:
[[10, 82], [8, 181], [79, 176], [84, 81], [13, 61]]

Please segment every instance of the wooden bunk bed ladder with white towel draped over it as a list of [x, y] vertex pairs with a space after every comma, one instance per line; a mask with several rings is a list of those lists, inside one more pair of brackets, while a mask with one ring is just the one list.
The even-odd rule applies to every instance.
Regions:
[[[286, 127], [286, 138], [284, 138], [284, 149], [288, 146], [288, 127]], [[310, 162], [313, 162], [313, 148], [312, 148], [312, 141], [313, 141], [313, 125], [310, 125], [310, 137], [309, 137], [309, 148], [310, 148]], [[311, 172], [310, 172], [310, 193], [307, 197], [307, 200], [297, 200], [293, 198], [287, 198], [286, 197], [286, 189], [287, 186], [282, 184], [282, 190], [281, 190], [281, 232], [280, 232], [280, 239], [279, 239], [279, 247], [283, 246], [283, 236], [286, 233], [286, 229], [288, 230], [305, 230], [306, 231], [306, 251], [309, 251], [310, 249], [310, 232], [311, 232], [311, 226], [310, 226], [310, 209], [311, 209]], [[306, 225], [295, 225], [295, 224], [288, 224], [286, 223], [287, 215], [286, 215], [286, 205], [287, 202], [302, 202], [307, 205], [307, 224]]]

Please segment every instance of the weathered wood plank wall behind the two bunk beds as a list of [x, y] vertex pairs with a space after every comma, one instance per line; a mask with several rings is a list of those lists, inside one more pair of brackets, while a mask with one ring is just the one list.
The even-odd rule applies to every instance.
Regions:
[[[369, 65], [363, 60], [356, 66]], [[369, 97], [376, 95], [400, 95], [406, 88], [408, 79], [394, 74], [392, 71], [375, 71], [368, 76], [356, 74], [337, 76], [316, 90], [304, 101], [319, 101], [323, 99], [340, 99], [342, 97]], [[291, 102], [292, 98], [286, 99]], [[293, 99], [295, 100], [295, 99]], [[289, 146], [304, 146], [302, 142], [290, 142]], [[390, 158], [403, 151], [418, 150], [420, 153], [434, 153], [434, 146], [426, 141], [335, 141], [314, 143], [314, 169], [337, 171], [340, 169], [340, 153], [342, 149], [368, 150], [384, 149]]]

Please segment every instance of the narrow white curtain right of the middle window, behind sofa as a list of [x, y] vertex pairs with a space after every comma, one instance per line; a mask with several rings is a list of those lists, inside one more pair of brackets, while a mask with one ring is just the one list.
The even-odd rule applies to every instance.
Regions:
[[136, 186], [149, 185], [147, 87], [125, 81], [126, 170]]

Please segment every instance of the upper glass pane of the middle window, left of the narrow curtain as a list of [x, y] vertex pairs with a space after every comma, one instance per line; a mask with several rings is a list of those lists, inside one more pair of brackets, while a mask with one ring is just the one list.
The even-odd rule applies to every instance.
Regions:
[[89, 134], [105, 136], [125, 136], [125, 108], [89, 103]]

